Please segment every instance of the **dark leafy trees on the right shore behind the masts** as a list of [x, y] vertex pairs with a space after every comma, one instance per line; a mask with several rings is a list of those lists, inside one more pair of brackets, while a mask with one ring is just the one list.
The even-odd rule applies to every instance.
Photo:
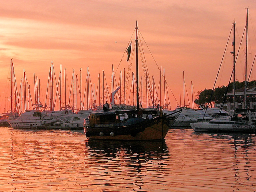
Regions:
[[[247, 82], [248, 87], [255, 86], [255, 85], [256, 85], [255, 80]], [[238, 80], [236, 80], [235, 90], [238, 90], [240, 88], [244, 88], [244, 81], [239, 82]], [[222, 85], [221, 87], [216, 87], [214, 88], [213, 92], [212, 92], [212, 89], [204, 89], [203, 91], [199, 91], [197, 93], [197, 98], [194, 99], [194, 102], [195, 104], [202, 105], [202, 106], [207, 105], [208, 102], [210, 102], [210, 106], [213, 107], [214, 103], [223, 102], [223, 98], [227, 89], [228, 89], [228, 92], [233, 91], [233, 82], [231, 82], [229, 86]], [[211, 94], [212, 94], [212, 97], [211, 97]]]

